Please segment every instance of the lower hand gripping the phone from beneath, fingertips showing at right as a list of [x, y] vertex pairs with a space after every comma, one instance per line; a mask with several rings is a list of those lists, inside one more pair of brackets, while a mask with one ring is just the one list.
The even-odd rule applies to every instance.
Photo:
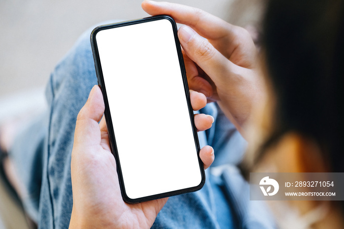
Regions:
[[[190, 91], [190, 97], [194, 110], [206, 105], [203, 94]], [[69, 228], [150, 228], [168, 198], [137, 204], [123, 201], [106, 122], [102, 118], [104, 109], [100, 88], [94, 86], [75, 127], [71, 161], [73, 210]], [[195, 115], [199, 130], [210, 128], [212, 122], [210, 115]], [[200, 157], [204, 168], [208, 168], [214, 160], [212, 147], [204, 146]]]

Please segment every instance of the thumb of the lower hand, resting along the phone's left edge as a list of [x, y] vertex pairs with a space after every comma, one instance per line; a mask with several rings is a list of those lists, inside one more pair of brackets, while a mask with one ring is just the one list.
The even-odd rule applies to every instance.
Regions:
[[80, 110], [75, 126], [74, 143], [86, 145], [101, 141], [98, 122], [104, 114], [104, 100], [99, 86], [93, 86], [84, 107]]

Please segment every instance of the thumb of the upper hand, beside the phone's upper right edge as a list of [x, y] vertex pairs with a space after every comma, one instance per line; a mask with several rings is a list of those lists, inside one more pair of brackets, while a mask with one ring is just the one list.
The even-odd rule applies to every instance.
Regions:
[[[188, 26], [178, 30], [178, 37], [184, 52], [214, 81], [215, 85], [223, 82], [235, 65], [215, 49], [207, 39], [201, 37]], [[228, 80], [228, 78], [227, 78]]]

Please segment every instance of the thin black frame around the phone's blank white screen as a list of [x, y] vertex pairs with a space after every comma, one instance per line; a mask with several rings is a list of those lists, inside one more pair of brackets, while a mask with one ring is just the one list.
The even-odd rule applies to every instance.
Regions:
[[[170, 192], [166, 192], [166, 193], [151, 195], [151, 196], [137, 198], [137, 199], [131, 199], [126, 195], [126, 192], [125, 192], [125, 186], [124, 186], [120, 161], [119, 161], [119, 157], [118, 157], [117, 147], [116, 147], [115, 133], [114, 133], [112, 118], [111, 118], [111, 114], [110, 114], [108, 97], [107, 97], [107, 93], [106, 93], [106, 86], [105, 86], [104, 79], [103, 79], [103, 72], [102, 72], [101, 62], [100, 62], [98, 48], [97, 48], [96, 34], [99, 31], [104, 30], [104, 29], [114, 29], [114, 28], [118, 28], [118, 27], [130, 26], [130, 25], [146, 23], [146, 22], [151, 22], [151, 21], [156, 21], [156, 20], [163, 20], [163, 19], [169, 20], [172, 24], [173, 35], [174, 35], [175, 45], [176, 45], [178, 59], [179, 59], [180, 71], [181, 71], [181, 75], [182, 75], [182, 79], [183, 79], [185, 96], [186, 96], [186, 100], [187, 100], [187, 104], [188, 104], [188, 108], [189, 108], [190, 121], [191, 121], [191, 124], [193, 127], [194, 140], [195, 140], [195, 144], [196, 144], [197, 155], [198, 155], [198, 160], [199, 160], [199, 165], [200, 165], [201, 183], [195, 187], [170, 191]], [[203, 166], [203, 162], [201, 161], [201, 158], [200, 158], [200, 143], [199, 143], [199, 139], [198, 139], [197, 128], [195, 126], [194, 113], [193, 113], [193, 109], [192, 109], [191, 102], [190, 102], [189, 86], [188, 86], [188, 82], [187, 82], [187, 78], [186, 78], [184, 59], [183, 59], [183, 55], [182, 55], [181, 48], [180, 48], [177, 30], [178, 30], [177, 25], [171, 16], [169, 16], [169, 15], [157, 15], [157, 16], [146, 17], [146, 18], [142, 18], [142, 19], [136, 19], [136, 20], [130, 20], [130, 21], [124, 21], [124, 22], [118, 22], [118, 23], [98, 26], [95, 29], [93, 29], [93, 31], [91, 32], [91, 36], [90, 36], [91, 48], [92, 48], [92, 53], [93, 53], [95, 71], [96, 71], [96, 75], [97, 75], [97, 79], [98, 79], [98, 86], [100, 87], [100, 89], [102, 91], [104, 103], [105, 103], [104, 115], [106, 118], [106, 124], [107, 124], [107, 128], [108, 128], [110, 148], [111, 148], [112, 154], [114, 155], [115, 161], [116, 161], [116, 170], [117, 170], [117, 174], [118, 174], [118, 180], [119, 180], [119, 186], [120, 186], [122, 198], [124, 201], [126, 201], [128, 203], [139, 203], [139, 202], [148, 201], [148, 200], [156, 200], [156, 199], [160, 199], [160, 198], [171, 197], [171, 196], [185, 194], [185, 193], [189, 193], [189, 192], [195, 192], [195, 191], [200, 190], [205, 183], [204, 166]]]

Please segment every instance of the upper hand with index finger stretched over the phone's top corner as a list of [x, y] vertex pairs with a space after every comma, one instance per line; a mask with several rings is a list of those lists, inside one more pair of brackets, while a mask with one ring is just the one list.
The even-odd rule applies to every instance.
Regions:
[[247, 30], [185, 5], [145, 0], [142, 8], [186, 25], [178, 37], [189, 87], [205, 94], [208, 102], [217, 101], [245, 136], [242, 127], [263, 93], [257, 50]]

